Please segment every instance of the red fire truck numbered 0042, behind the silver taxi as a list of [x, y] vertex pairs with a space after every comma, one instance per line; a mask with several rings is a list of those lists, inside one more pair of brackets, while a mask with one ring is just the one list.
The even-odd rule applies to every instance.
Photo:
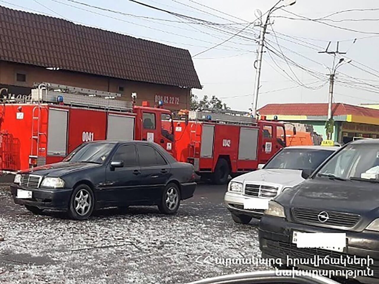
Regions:
[[256, 120], [240, 111], [188, 111], [174, 121], [175, 153], [215, 184], [254, 171], [285, 147], [284, 125]]

